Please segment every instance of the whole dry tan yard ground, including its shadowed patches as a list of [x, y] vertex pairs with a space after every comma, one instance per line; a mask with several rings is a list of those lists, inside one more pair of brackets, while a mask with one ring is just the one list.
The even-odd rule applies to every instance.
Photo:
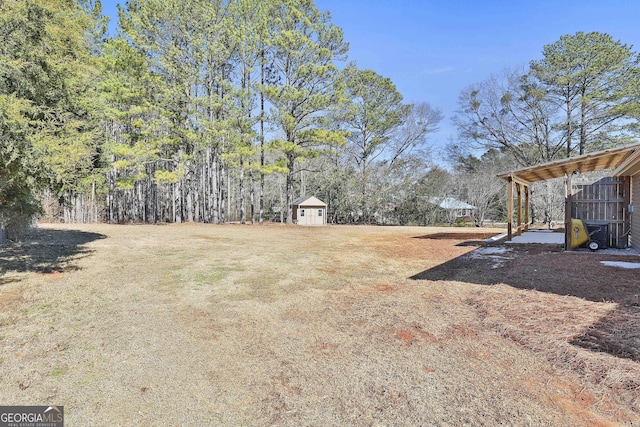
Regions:
[[0, 404], [70, 426], [640, 425], [640, 270], [600, 263], [637, 256], [444, 231], [42, 225], [0, 249]]

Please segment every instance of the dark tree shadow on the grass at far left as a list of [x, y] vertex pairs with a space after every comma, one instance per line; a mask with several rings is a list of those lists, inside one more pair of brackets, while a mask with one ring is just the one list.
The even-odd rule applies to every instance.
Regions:
[[77, 270], [74, 260], [93, 252], [83, 245], [104, 239], [99, 233], [76, 230], [31, 229], [18, 243], [0, 246], [0, 285], [8, 272], [54, 273]]

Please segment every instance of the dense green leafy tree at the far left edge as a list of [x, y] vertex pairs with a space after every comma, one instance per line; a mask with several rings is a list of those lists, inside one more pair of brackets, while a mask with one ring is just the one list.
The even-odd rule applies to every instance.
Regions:
[[28, 223], [39, 189], [68, 201], [90, 181], [96, 10], [64, 0], [0, 3], [0, 228]]

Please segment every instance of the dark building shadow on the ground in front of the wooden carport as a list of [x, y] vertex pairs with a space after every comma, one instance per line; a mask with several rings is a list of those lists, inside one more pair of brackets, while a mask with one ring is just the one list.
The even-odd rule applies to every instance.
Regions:
[[554, 245], [489, 246], [411, 279], [478, 285], [502, 283], [594, 302], [615, 302], [616, 310], [571, 344], [640, 362], [640, 270], [604, 265], [601, 261], [640, 263], [640, 257], [564, 252]]

